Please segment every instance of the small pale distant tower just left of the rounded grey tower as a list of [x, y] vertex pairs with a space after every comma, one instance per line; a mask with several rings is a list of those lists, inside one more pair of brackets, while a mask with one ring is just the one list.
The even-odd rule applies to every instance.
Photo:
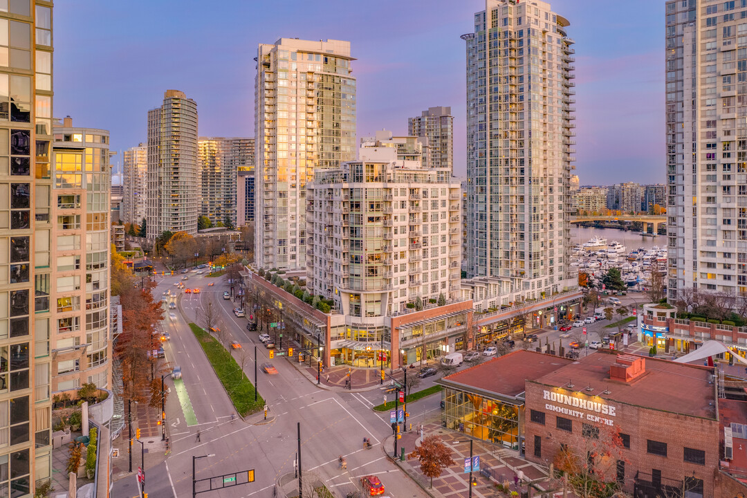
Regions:
[[146, 217], [148, 149], [142, 143], [123, 152], [122, 220], [140, 226]]

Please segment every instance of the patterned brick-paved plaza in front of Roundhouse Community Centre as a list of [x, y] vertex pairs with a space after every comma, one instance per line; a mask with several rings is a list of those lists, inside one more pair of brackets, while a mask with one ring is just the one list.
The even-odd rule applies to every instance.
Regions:
[[[441, 476], [433, 479], [433, 488], [430, 488], [430, 478], [423, 475], [420, 470], [420, 462], [415, 458], [408, 458], [415, 446], [419, 444], [417, 432], [404, 432], [402, 438], [397, 441], [397, 454], [401, 455], [405, 449], [405, 461], [397, 458], [394, 463], [410, 476], [424, 491], [433, 498], [467, 498], [469, 496], [469, 473], [464, 472], [465, 458], [470, 456], [470, 444], [468, 442], [457, 442], [468, 440], [466, 435], [449, 431], [441, 427], [438, 419], [433, 417], [424, 425], [424, 436], [438, 435], [451, 450], [454, 464], [444, 470]], [[532, 495], [547, 491], [550, 486], [548, 482], [548, 471], [537, 464], [518, 458], [518, 453], [509, 449], [500, 448], [495, 444], [474, 440], [473, 456], [480, 455], [480, 469], [482, 473], [473, 473], [477, 479], [477, 486], [472, 487], [472, 496], [476, 498], [494, 497], [498, 491], [495, 482], [509, 482], [512, 491], [527, 491], [527, 480], [533, 485]], [[394, 437], [385, 439], [383, 447], [391, 458], [394, 453]], [[517, 473], [524, 474], [524, 485], [516, 485], [514, 477]], [[492, 479], [489, 478], [492, 476]]]

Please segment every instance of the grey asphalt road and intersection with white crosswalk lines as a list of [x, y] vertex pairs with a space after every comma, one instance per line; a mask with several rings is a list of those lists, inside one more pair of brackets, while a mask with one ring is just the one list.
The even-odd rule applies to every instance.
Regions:
[[[199, 288], [199, 294], [185, 294], [173, 286], [181, 281], [182, 274], [160, 278], [153, 290], [156, 299], [161, 299], [164, 290], [179, 292], [176, 319], [171, 319], [167, 311], [162, 324], [171, 336], [164, 349], [167, 361], [182, 367], [189, 402], [180, 402], [179, 396], [174, 395], [173, 383], [167, 380], [171, 389], [166, 411], [172, 452], [163, 469], [146, 469], [146, 476], [153, 476], [148, 479], [149, 497], [190, 496], [192, 457], [203, 455], [214, 456], [196, 460], [197, 479], [255, 470], [255, 482], [211, 491], [203, 496], [271, 497], [276, 479], [294, 472], [299, 422], [303, 472], [307, 476], [309, 473], [319, 476], [336, 496], [344, 497], [347, 491], [353, 491], [360, 476], [370, 474], [379, 476], [388, 491], [396, 491], [397, 497], [427, 496], [382, 452], [381, 441], [391, 434], [388, 412], [371, 411], [373, 405], [383, 401], [382, 390], [367, 393], [323, 390], [309, 382], [287, 359], [276, 357], [269, 360], [267, 350], [257, 338], [259, 332], [247, 331], [247, 318], [235, 317], [232, 314], [234, 303], [222, 298], [223, 291], [227, 290], [226, 277], [206, 278], [196, 273], [188, 276], [185, 285], [191, 289]], [[214, 286], [208, 286], [210, 282], [214, 282]], [[254, 346], [258, 346], [258, 363], [269, 361], [278, 370], [278, 374], [273, 376], [258, 373], [259, 393], [270, 408], [270, 417], [275, 417], [271, 423], [252, 425], [238, 419], [232, 422], [232, 404], [187, 326], [188, 321], [194, 321], [195, 317], [198, 325], [204, 326], [199, 308], [207, 299], [212, 299], [220, 309], [218, 326], [228, 333], [226, 343], [238, 340], [241, 350], [249, 353], [244, 364], [249, 379], [253, 381], [254, 378]], [[234, 354], [240, 355], [241, 352]], [[433, 378], [425, 379], [421, 387], [432, 383]], [[417, 424], [418, 416], [438, 410], [439, 401], [438, 396], [431, 396], [412, 403], [408, 408], [415, 417], [415, 420], [410, 420], [413, 426]], [[185, 420], [185, 407], [189, 404], [196, 416], [196, 425], [192, 426]], [[199, 441], [196, 437], [198, 429]], [[364, 437], [371, 439], [373, 449], [362, 449]], [[347, 459], [347, 470], [338, 469], [339, 455]], [[222, 480], [213, 479], [212, 483], [214, 487], [220, 486]], [[206, 489], [207, 485], [207, 482], [199, 483], [198, 491]], [[119, 491], [120, 486], [118, 482], [115, 489]]]

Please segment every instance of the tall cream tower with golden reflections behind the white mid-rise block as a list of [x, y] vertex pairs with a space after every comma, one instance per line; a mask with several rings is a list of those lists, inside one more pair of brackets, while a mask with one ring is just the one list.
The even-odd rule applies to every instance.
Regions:
[[255, 81], [255, 261], [306, 269], [306, 184], [356, 155], [350, 42], [260, 44]]

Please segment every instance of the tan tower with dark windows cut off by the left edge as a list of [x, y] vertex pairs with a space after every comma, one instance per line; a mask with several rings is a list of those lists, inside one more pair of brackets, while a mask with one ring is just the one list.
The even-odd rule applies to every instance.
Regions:
[[52, 475], [52, 2], [4, 2], [0, 33], [0, 497], [26, 497]]

